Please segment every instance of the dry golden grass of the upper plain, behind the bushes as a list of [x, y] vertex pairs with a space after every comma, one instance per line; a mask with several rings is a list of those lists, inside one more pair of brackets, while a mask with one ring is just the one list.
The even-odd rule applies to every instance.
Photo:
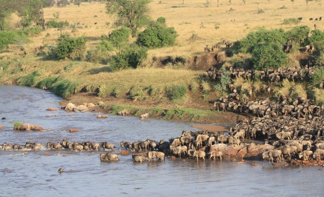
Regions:
[[[299, 25], [308, 25], [313, 29], [315, 21], [309, 21], [309, 18], [318, 18], [324, 10], [321, 1], [309, 2], [307, 7], [305, 1], [292, 3], [279, 0], [246, 1], [246, 4], [243, 4], [243, 1], [234, 1], [231, 5], [228, 1], [220, 1], [219, 7], [217, 7], [217, 1], [210, 1], [210, 4], [206, 5], [206, 1], [200, 0], [185, 1], [184, 4], [181, 0], [152, 0], [149, 6], [152, 19], [165, 17], [167, 25], [174, 27], [178, 33], [175, 46], [149, 50], [150, 56], [190, 56], [202, 53], [207, 44], [213, 45], [223, 40], [240, 40], [260, 26], [267, 29], [289, 29], [295, 26], [282, 25], [285, 18], [303, 17]], [[283, 6], [286, 9], [280, 9]], [[264, 12], [258, 13], [258, 9]], [[114, 29], [114, 17], [106, 14], [105, 11], [104, 3], [82, 3], [80, 7], [69, 5], [44, 9], [46, 21], [55, 19], [53, 13], [59, 13], [58, 21], [66, 20], [69, 24], [80, 22], [82, 28], [78, 28], [72, 34], [86, 36], [88, 49], [93, 48], [99, 42], [102, 34], [108, 34]], [[95, 15], [97, 17], [94, 17]], [[17, 22], [19, 18], [13, 16], [13, 20]], [[94, 24], [95, 22], [97, 25]], [[202, 22], [204, 28], [200, 28]], [[107, 23], [109, 25], [106, 25]], [[318, 29], [324, 28], [324, 22], [316, 23]], [[71, 29], [65, 29], [63, 32], [71, 33]], [[34, 42], [29, 44], [30, 48], [42, 45], [46, 33], [50, 33], [47, 42], [55, 42], [60, 34], [55, 29], [48, 29], [41, 36], [33, 38]], [[193, 33], [202, 39], [189, 41]]]

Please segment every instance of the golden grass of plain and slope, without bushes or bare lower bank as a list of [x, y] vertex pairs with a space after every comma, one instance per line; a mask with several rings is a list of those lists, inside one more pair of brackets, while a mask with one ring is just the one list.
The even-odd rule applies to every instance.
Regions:
[[[181, 56], [190, 60], [193, 56], [205, 55], [205, 45], [214, 45], [223, 40], [240, 40], [258, 27], [287, 30], [295, 26], [307, 25], [314, 29], [316, 23], [318, 29], [324, 29], [324, 21], [315, 21], [315, 18], [323, 14], [324, 7], [321, 1], [309, 2], [308, 6], [305, 1], [301, 0], [294, 2], [247, 0], [245, 2], [237, 0], [151, 1], [149, 15], [154, 20], [160, 16], [166, 18], [167, 26], [174, 27], [178, 33], [176, 44], [172, 47], [149, 50], [149, 56], [143, 68], [117, 72], [111, 72], [109, 65], [85, 61], [46, 60], [34, 52], [35, 48], [40, 46], [55, 45], [59, 35], [65, 32], [73, 36], [86, 37], [87, 50], [94, 49], [102, 35], [107, 35], [116, 28], [113, 25], [114, 16], [105, 13], [104, 3], [82, 3], [80, 7], [68, 5], [45, 8], [46, 21], [51, 19], [67, 21], [76, 28], [47, 29], [39, 36], [32, 37], [31, 43], [24, 45], [27, 54], [14, 50], [14, 47], [11, 47], [13, 50], [0, 54], [2, 58], [0, 64], [4, 68], [0, 75], [0, 82], [19, 83], [23, 77], [29, 76], [33, 71], [38, 71], [40, 76], [34, 78], [32, 86], [41, 88], [40, 84], [44, 80], [57, 78], [57, 81], [65, 83], [60, 84], [61, 86], [70, 86], [65, 92], [58, 90], [70, 101], [81, 103], [80, 95], [85, 100], [85, 95], [97, 96], [98, 93], [100, 95], [100, 90], [101, 93], [105, 90], [106, 94], [96, 99], [106, 101], [107, 105], [126, 104], [141, 107], [160, 106], [210, 110], [213, 109], [210, 101], [217, 95], [213, 91], [213, 82], [203, 80], [201, 77], [206, 67], [199, 65], [192, 67], [187, 63], [161, 67], [154, 59]], [[298, 17], [303, 19], [297, 25], [283, 24], [284, 19]], [[309, 18], [314, 20], [310, 21]], [[13, 14], [11, 21], [12, 27], [15, 27], [19, 18]], [[200, 27], [202, 23], [203, 28]], [[130, 40], [135, 41], [131, 37]], [[224, 58], [228, 61], [227, 64], [231, 63], [229, 59]], [[208, 62], [208, 58], [204, 64], [212, 65]], [[55, 81], [55, 83], [58, 82]], [[164, 96], [164, 88], [174, 85], [184, 85], [188, 88], [188, 94], [183, 100], [170, 101]], [[147, 96], [149, 87], [155, 91], [154, 96], [151, 94]], [[129, 92], [136, 88], [139, 89], [138, 94], [141, 99], [134, 101], [130, 99]], [[81, 92], [83, 93], [80, 94]], [[74, 96], [76, 93], [79, 93], [79, 96]]]

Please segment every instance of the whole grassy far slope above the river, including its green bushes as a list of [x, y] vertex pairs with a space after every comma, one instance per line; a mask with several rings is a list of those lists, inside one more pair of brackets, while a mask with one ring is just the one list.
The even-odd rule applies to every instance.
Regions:
[[[7, 9], [0, 32], [0, 81], [44, 88], [65, 99], [82, 93], [118, 105], [143, 107], [146, 103], [153, 107], [151, 113], [154, 106], [214, 110], [213, 101], [232, 93], [230, 85], [238, 89], [241, 99], [269, 97], [277, 102], [284, 95], [289, 98], [287, 104], [298, 97], [323, 103], [324, 22], [318, 2], [308, 7], [284, 2], [284, 10], [277, 8], [276, 1], [259, 2], [262, 13], [251, 3], [145, 3], [141, 19], [146, 23], [138, 21], [137, 26], [129, 23], [125, 13], [113, 12], [111, 6], [118, 5], [46, 4], [39, 8], [46, 18], [44, 31], [31, 27], [41, 26], [41, 17], [26, 18], [21, 10], [16, 15], [12, 8]], [[217, 21], [211, 14], [215, 9]], [[278, 18], [272, 17], [275, 13]], [[314, 20], [309, 21], [308, 15]], [[296, 20], [298, 24], [287, 22]], [[222, 71], [222, 76], [204, 77], [210, 67]], [[262, 80], [260, 73], [232, 77], [232, 69], [238, 68], [264, 72], [312, 68], [314, 73], [297, 73], [301, 80]], [[186, 116], [181, 110], [178, 114], [170, 119]]]

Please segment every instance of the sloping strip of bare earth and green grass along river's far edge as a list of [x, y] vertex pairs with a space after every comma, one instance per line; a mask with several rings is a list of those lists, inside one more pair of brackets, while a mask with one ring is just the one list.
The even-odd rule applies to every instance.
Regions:
[[[94, 113], [106, 113], [117, 115], [121, 110], [128, 110], [129, 115], [140, 116], [149, 113], [149, 117], [153, 119], [180, 121], [200, 124], [226, 124], [235, 125], [238, 120], [247, 119], [246, 116], [233, 112], [217, 112], [214, 107], [203, 106], [200, 108], [186, 108], [187, 106], [177, 107], [170, 104], [154, 104], [150, 102], [131, 102], [127, 99], [117, 99], [110, 97], [103, 99], [98, 96], [89, 95], [87, 93], [79, 93], [71, 95], [68, 99], [60, 102], [60, 105], [66, 106], [68, 103], [81, 105], [84, 103], [95, 103], [96, 105], [90, 111]], [[202, 128], [202, 126], [196, 126]], [[219, 126], [204, 127], [209, 131], [225, 131], [227, 128]]]

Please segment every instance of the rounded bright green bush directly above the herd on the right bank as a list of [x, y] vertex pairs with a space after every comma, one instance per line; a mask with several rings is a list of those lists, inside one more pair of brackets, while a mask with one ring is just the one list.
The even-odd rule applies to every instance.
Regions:
[[277, 69], [286, 61], [287, 54], [282, 50], [280, 44], [259, 44], [252, 51], [251, 62], [256, 70]]

